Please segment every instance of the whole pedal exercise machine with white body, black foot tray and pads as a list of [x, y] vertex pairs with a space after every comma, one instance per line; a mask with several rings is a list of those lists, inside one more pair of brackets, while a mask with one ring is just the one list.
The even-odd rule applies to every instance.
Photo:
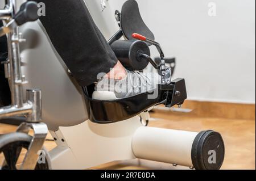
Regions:
[[[100, 12], [100, 3], [85, 3], [91, 12]], [[114, 23], [108, 9], [102, 13]], [[112, 28], [115, 25], [109, 23], [106, 26]], [[162, 83], [156, 87], [159, 94], [153, 99], [148, 99], [150, 92], [115, 99], [113, 95], [102, 94], [106, 92], [95, 92], [93, 85], [77, 86], [53, 47], [47, 28], [51, 27], [43, 27], [38, 20], [24, 24], [20, 31], [27, 39], [26, 49], [21, 47], [22, 72], [28, 80], [25, 87], [42, 90], [43, 121], [57, 144], [47, 153], [52, 169], [86, 169], [135, 158], [195, 169], [220, 169], [224, 161], [224, 142], [219, 133], [175, 131], [142, 124], [142, 120], [149, 120], [147, 110], [151, 107], [180, 105], [187, 99], [187, 91], [184, 79], [171, 79], [171, 69], [165, 64], [163, 50], [143, 22], [136, 1], [129, 0], [123, 5], [120, 30], [109, 44], [127, 69], [142, 70], [150, 63], [159, 70]], [[108, 27], [105, 28], [108, 32]], [[119, 40], [121, 37], [125, 40]], [[150, 58], [149, 45], [155, 45], [159, 50], [160, 64]], [[213, 163], [208, 160], [209, 151], [216, 153]]]

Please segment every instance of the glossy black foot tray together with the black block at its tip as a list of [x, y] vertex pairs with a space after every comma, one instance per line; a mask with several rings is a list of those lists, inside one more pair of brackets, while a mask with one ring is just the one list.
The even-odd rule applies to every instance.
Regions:
[[[172, 107], [187, 99], [183, 78], [175, 79], [170, 85], [158, 85], [158, 89], [154, 92], [144, 92], [116, 100], [92, 99], [94, 87], [94, 85], [83, 87], [83, 91], [89, 120], [98, 124], [124, 121], [158, 104], [167, 104], [167, 107]], [[174, 95], [176, 91], [180, 92], [179, 96]]]

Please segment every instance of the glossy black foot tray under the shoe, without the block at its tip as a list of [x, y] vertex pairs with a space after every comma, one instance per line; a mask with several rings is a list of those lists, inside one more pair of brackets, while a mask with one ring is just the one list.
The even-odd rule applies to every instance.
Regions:
[[151, 93], [145, 92], [125, 99], [96, 100], [92, 99], [93, 88], [94, 85], [84, 87], [83, 90], [89, 120], [98, 124], [116, 123], [130, 119], [162, 101], [162, 92], [159, 92], [155, 99], [148, 99]]

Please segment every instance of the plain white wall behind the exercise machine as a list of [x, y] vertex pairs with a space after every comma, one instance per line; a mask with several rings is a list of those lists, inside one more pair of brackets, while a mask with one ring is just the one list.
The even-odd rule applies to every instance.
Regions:
[[[137, 1], [166, 56], [177, 57], [175, 77], [186, 79], [189, 99], [255, 103], [254, 0]], [[110, 8], [123, 2], [109, 0]]]

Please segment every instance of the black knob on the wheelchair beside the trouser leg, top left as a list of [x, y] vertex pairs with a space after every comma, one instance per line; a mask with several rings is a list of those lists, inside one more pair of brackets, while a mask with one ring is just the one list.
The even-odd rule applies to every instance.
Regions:
[[38, 3], [34, 1], [28, 1], [23, 3], [20, 6], [19, 12], [17, 12], [14, 16], [15, 22], [18, 24], [18, 26], [20, 26], [24, 23], [34, 22], [35, 20], [38, 20], [38, 10]]

